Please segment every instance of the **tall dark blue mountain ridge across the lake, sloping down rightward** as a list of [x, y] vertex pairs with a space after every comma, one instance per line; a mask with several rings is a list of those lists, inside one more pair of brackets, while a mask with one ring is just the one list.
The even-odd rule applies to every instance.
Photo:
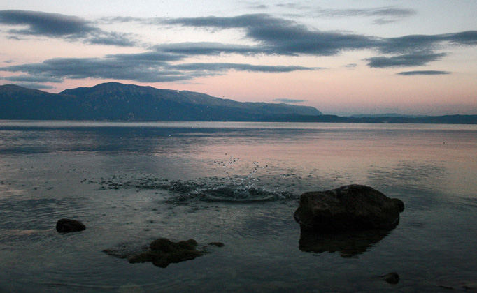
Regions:
[[0, 119], [112, 121], [262, 121], [322, 113], [314, 107], [241, 103], [204, 93], [108, 82], [61, 93], [0, 86]]

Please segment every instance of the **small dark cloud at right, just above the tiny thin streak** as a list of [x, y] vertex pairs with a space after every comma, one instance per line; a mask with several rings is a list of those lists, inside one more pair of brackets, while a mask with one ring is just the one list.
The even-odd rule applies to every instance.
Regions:
[[438, 61], [446, 53], [422, 53], [404, 54], [393, 57], [371, 57], [365, 59], [369, 61], [368, 66], [372, 68], [387, 67], [406, 67], [406, 66], [423, 66], [432, 61]]

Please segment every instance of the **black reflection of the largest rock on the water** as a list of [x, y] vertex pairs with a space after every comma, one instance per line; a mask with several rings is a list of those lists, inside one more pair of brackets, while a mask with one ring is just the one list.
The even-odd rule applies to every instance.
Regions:
[[299, 249], [307, 253], [335, 253], [356, 257], [385, 238], [391, 230], [366, 230], [346, 234], [322, 234], [301, 230]]

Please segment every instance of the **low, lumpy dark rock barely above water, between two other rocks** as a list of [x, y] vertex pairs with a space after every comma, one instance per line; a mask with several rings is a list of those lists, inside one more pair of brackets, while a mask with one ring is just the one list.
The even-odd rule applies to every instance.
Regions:
[[148, 250], [128, 257], [128, 261], [131, 264], [152, 262], [155, 266], [165, 268], [171, 263], [193, 260], [206, 253], [205, 250], [197, 250], [196, 246], [197, 241], [194, 239], [172, 242], [166, 238], [159, 238], [150, 243]]

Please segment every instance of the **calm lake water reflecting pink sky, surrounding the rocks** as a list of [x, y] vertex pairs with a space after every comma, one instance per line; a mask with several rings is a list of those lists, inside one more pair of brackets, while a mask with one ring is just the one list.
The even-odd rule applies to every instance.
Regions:
[[[0, 292], [477, 292], [476, 175], [470, 125], [0, 121]], [[299, 195], [348, 184], [401, 199], [399, 225], [303, 249]], [[159, 237], [225, 246], [103, 251]]]

